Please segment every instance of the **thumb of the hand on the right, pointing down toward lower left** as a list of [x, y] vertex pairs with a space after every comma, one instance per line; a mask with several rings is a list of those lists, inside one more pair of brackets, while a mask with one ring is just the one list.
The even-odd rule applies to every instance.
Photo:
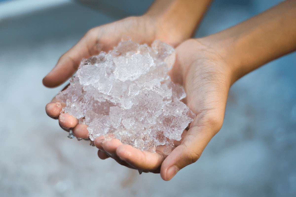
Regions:
[[196, 162], [213, 136], [210, 128], [190, 128], [182, 143], [163, 161], [160, 169], [163, 180], [170, 180], [183, 167]]

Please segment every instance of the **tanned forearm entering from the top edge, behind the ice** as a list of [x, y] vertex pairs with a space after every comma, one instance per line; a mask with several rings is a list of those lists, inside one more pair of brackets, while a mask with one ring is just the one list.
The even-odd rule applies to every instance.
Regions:
[[144, 16], [155, 17], [158, 30], [179, 42], [192, 37], [212, 0], [156, 0]]

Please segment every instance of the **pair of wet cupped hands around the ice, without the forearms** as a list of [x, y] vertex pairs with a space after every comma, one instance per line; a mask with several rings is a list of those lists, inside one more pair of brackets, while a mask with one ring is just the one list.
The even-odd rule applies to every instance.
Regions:
[[[151, 153], [122, 144], [118, 139], [105, 140], [103, 136], [96, 138], [94, 145], [99, 149], [101, 159], [112, 157], [126, 167], [160, 173], [164, 180], [170, 180], [181, 168], [197, 161], [223, 123], [232, 71], [213, 43], [204, 39], [189, 39], [181, 43], [181, 37], [174, 32], [166, 32], [151, 17], [128, 17], [89, 30], [59, 58], [54, 69], [43, 79], [43, 84], [46, 87], [62, 84], [75, 73], [82, 58], [96, 55], [101, 50], [109, 51], [127, 37], [139, 43], [151, 44], [159, 39], [177, 46], [176, 62], [169, 74], [173, 82], [183, 85], [187, 95], [184, 102], [196, 118], [189, 130], [182, 134], [182, 140], [175, 141], [175, 147], [168, 155], [163, 153], [163, 146]], [[63, 105], [54, 98], [46, 105], [46, 113], [58, 118], [63, 129], [72, 129], [74, 136], [88, 138], [87, 125], [78, 124], [70, 114], [60, 114]]]

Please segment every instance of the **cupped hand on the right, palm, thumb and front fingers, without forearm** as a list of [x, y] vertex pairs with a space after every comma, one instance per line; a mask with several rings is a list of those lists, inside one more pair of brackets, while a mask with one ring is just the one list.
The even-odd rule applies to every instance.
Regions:
[[[176, 48], [177, 59], [170, 71], [171, 79], [184, 86], [185, 103], [196, 114], [188, 131], [169, 155], [163, 153], [165, 146], [159, 146], [156, 153], [140, 151], [118, 139], [103, 136], [95, 139], [101, 159], [112, 157], [119, 164], [143, 172], [159, 173], [164, 180], [170, 180], [181, 168], [192, 164], [202, 154], [210, 139], [220, 130], [226, 100], [231, 86], [231, 70], [221, 54], [211, 43], [202, 39], [190, 39]], [[211, 45], [213, 46], [213, 45]], [[74, 135], [87, 137], [87, 127], [74, 130]]]

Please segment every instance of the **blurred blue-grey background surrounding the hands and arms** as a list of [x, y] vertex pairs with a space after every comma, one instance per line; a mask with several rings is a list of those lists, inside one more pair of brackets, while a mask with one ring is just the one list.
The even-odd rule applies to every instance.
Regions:
[[[236, 25], [280, 0], [215, 0], [195, 36]], [[100, 160], [67, 138], [42, 78], [92, 27], [143, 14], [152, 0], [0, 0], [0, 196], [296, 196], [296, 53], [237, 81], [221, 131], [165, 182]]]

